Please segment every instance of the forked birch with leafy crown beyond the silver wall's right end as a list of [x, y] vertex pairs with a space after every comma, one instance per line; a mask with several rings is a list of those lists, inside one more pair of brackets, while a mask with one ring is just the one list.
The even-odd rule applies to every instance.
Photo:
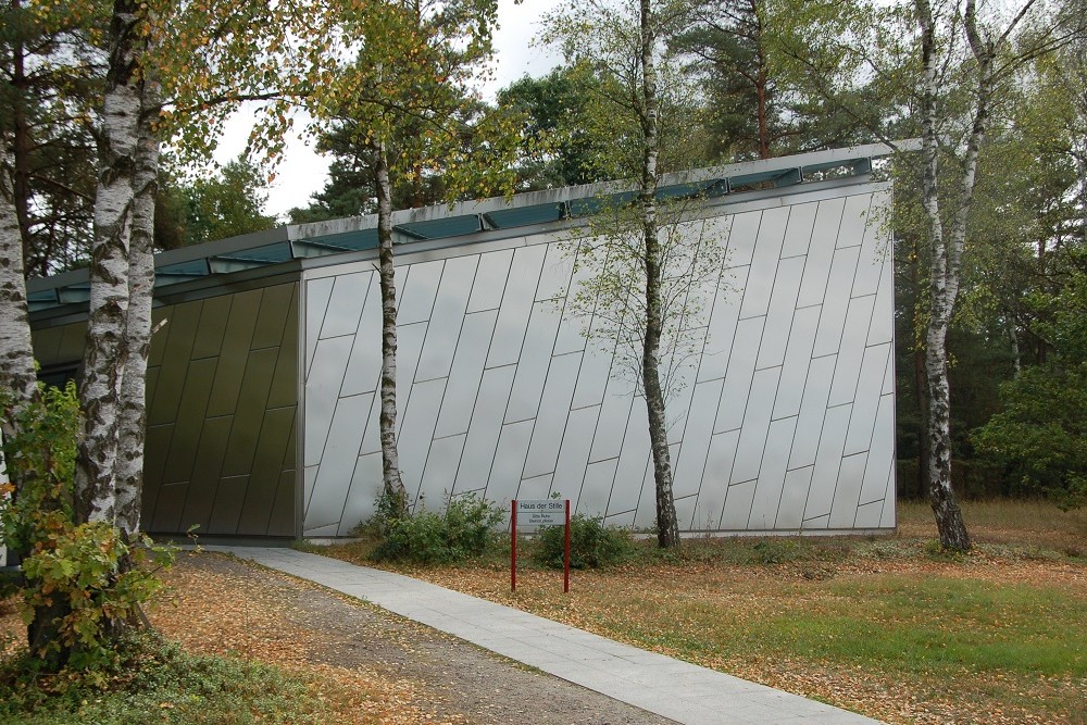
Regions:
[[[811, 85], [891, 145], [891, 134], [922, 140], [920, 210], [900, 209], [896, 216], [916, 222], [927, 261], [917, 316], [925, 477], [940, 543], [949, 550], [971, 546], [951, 480], [947, 338], [972, 237], [979, 153], [1015, 73], [1077, 33], [1055, 10], [1044, 0], [778, 3], [779, 17], [795, 15], [778, 53], [794, 83]], [[848, 92], [860, 84], [864, 93]], [[870, 120], [872, 105], [883, 109], [879, 126]]]

